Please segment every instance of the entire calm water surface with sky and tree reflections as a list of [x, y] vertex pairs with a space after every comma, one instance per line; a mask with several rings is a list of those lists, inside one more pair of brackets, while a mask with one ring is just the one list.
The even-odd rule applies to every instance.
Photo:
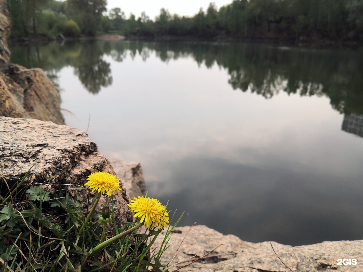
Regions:
[[12, 46], [66, 124], [140, 161], [149, 196], [251, 242], [363, 239], [363, 50], [97, 41]]

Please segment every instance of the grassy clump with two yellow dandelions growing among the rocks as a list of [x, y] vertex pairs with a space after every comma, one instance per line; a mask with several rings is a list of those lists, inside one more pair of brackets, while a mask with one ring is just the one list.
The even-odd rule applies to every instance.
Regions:
[[[25, 177], [3, 188], [0, 206], [0, 271], [168, 271], [160, 257], [167, 248], [169, 213], [157, 199], [138, 197], [129, 204], [134, 222], [116, 222], [113, 193], [121, 190], [119, 179], [109, 173], [93, 173], [85, 184], [97, 190], [89, 211], [82, 199], [69, 193], [69, 185], [49, 191], [48, 185], [21, 187]], [[1, 178], [5, 183], [5, 179]], [[64, 188], [67, 187], [67, 188]], [[53, 189], [53, 188], [52, 188]], [[95, 210], [106, 195], [102, 213]], [[111, 199], [109, 199], [111, 198]], [[175, 212], [174, 212], [175, 215]], [[173, 215], [173, 217], [174, 217]], [[173, 220], [170, 219], [170, 223]], [[146, 231], [140, 234], [140, 227]], [[150, 252], [156, 237], [167, 227], [161, 247]]]

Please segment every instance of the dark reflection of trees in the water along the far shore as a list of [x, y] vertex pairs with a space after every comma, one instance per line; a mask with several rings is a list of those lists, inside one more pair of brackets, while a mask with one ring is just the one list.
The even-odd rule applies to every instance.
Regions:
[[[130, 55], [146, 61], [151, 53], [168, 62], [193, 58], [199, 66], [218, 65], [230, 75], [234, 90], [272, 98], [279, 91], [301, 96], [328, 96], [341, 113], [363, 114], [363, 50], [284, 48], [265, 44], [211, 42], [95, 41], [11, 48], [12, 62], [26, 67], [59, 70], [71, 65], [92, 93], [112, 83], [109, 55], [121, 62]], [[30, 52], [30, 53], [29, 53]], [[54, 74], [54, 73], [53, 73]]]

